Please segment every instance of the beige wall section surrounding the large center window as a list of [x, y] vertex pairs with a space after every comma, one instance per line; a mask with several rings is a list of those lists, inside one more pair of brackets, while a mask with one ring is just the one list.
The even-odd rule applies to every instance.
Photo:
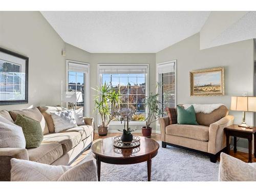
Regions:
[[[156, 92], [155, 80], [156, 80], [156, 58], [154, 53], [92, 53], [90, 65], [90, 87], [96, 88], [98, 82], [97, 76], [97, 64], [98, 63], [110, 63], [110, 64], [149, 64], [149, 92]], [[93, 112], [94, 108], [94, 95], [96, 93], [91, 89], [91, 114], [95, 117], [97, 122], [97, 115]], [[135, 129], [140, 130], [140, 126], [134, 126]], [[120, 126], [110, 126], [111, 130], [120, 129]]]

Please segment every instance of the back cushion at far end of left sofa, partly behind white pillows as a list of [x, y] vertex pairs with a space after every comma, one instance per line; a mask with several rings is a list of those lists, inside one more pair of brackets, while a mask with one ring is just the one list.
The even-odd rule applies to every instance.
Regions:
[[54, 133], [55, 127], [54, 127], [51, 112], [60, 112], [65, 110], [65, 108], [62, 108], [61, 106], [38, 106], [38, 109], [40, 110], [42, 115], [45, 117], [49, 133]]

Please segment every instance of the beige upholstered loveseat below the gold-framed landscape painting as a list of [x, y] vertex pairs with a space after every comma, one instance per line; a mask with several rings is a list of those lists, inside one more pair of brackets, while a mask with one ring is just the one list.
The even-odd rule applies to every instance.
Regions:
[[210, 114], [197, 113], [199, 125], [169, 124], [169, 118], [159, 119], [162, 147], [166, 145], [184, 148], [202, 153], [216, 162], [221, 151], [226, 147], [224, 128], [232, 125], [234, 117], [228, 115], [228, 109], [222, 105]]

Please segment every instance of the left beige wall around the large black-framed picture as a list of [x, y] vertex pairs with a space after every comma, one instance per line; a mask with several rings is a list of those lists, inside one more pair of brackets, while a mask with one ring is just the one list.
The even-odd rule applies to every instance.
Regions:
[[0, 110], [60, 104], [66, 80], [65, 43], [40, 12], [0, 12], [0, 47], [29, 57], [29, 103]]

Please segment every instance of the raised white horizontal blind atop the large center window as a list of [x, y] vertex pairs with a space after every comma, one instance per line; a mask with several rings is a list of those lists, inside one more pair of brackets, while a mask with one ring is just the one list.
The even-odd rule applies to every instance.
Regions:
[[136, 74], [147, 73], [147, 66], [119, 66], [119, 65], [99, 65], [99, 73], [111, 73], [111, 74]]

